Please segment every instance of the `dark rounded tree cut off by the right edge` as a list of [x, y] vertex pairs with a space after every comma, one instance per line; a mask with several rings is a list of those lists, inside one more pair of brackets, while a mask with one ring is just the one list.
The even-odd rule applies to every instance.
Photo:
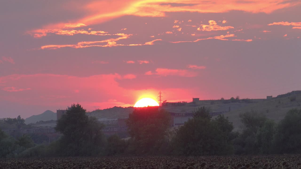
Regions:
[[276, 136], [277, 153], [301, 153], [301, 109], [291, 109], [280, 121]]

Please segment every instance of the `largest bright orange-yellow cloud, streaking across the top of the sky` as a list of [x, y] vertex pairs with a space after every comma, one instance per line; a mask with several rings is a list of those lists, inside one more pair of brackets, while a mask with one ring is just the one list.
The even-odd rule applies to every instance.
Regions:
[[[181, 3], [179, 0], [112, 0], [81, 2], [79, 11], [89, 14], [70, 23], [55, 23], [43, 29], [75, 28], [103, 23], [117, 17], [134, 15], [140, 17], [165, 17], [170, 12], [224, 13], [228, 11], [246, 11], [251, 13], [272, 13], [273, 11], [299, 5], [300, 1], [287, 0], [252, 0], [242, 3], [237, 0], [187, 0], [185, 3], [194, 5], [177, 6], [170, 3]], [[76, 2], [74, 2], [76, 3]], [[260, 8], [258, 8], [260, 7]], [[71, 6], [68, 8], [72, 8]], [[102, 10], [99, 10], [102, 9]], [[174, 23], [178, 23], [175, 20]]]

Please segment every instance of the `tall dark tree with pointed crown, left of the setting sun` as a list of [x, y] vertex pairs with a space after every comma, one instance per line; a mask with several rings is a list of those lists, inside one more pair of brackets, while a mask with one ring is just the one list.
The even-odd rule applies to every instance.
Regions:
[[61, 138], [61, 152], [68, 156], [96, 155], [103, 146], [100, 124], [96, 118], [88, 117], [86, 109], [79, 104], [73, 104], [57, 120], [56, 131], [63, 134]]

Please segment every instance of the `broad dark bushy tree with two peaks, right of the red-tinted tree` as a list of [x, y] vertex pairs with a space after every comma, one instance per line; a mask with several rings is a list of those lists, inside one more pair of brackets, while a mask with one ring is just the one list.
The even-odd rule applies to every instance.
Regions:
[[212, 120], [205, 107], [199, 108], [176, 132], [174, 149], [178, 155], [225, 155], [232, 153], [233, 124], [223, 115]]

